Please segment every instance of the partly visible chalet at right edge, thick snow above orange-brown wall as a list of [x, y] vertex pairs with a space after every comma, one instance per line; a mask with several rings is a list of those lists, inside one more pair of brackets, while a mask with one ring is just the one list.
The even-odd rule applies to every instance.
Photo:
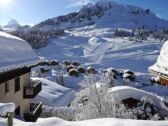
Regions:
[[149, 67], [149, 72], [158, 78], [160, 84], [168, 86], [168, 41], [163, 45], [157, 62]]

